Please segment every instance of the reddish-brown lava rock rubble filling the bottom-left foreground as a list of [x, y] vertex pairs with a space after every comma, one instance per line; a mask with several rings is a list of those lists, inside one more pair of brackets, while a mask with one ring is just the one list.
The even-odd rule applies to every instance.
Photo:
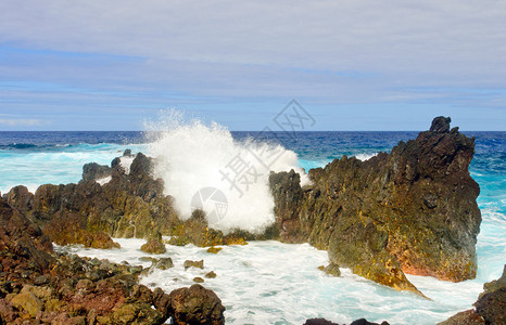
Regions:
[[224, 323], [212, 290], [169, 296], [139, 284], [141, 266], [55, 253], [40, 227], [2, 198], [0, 247], [0, 324], [163, 324], [169, 316], [174, 324]]

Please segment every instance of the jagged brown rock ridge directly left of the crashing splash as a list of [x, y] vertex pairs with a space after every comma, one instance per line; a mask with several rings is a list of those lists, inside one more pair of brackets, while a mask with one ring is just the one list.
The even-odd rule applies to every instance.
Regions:
[[[119, 162], [87, 164], [78, 184], [47, 184], [35, 195], [17, 186], [7, 194], [8, 203], [60, 245], [112, 248], [117, 244], [111, 236], [148, 237], [156, 231], [169, 235], [181, 221], [172, 198], [163, 194], [163, 181], [151, 177], [152, 164], [141, 153], [128, 174]], [[96, 180], [103, 176], [111, 181], [100, 185]]]

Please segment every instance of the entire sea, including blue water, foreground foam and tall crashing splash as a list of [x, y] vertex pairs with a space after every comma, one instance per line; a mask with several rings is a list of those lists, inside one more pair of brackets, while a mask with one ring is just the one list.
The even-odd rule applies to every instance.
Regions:
[[[84, 164], [109, 165], [129, 148], [157, 158], [156, 176], [164, 179], [165, 192], [175, 197], [181, 214], [189, 213], [199, 188], [214, 186], [223, 190], [228, 204], [216, 227], [254, 230], [274, 219], [269, 169], [293, 168], [304, 174], [343, 155], [365, 160], [417, 133], [230, 132], [202, 123], [156, 132], [0, 132], [0, 192], [5, 194], [18, 184], [35, 192], [46, 183], [76, 183]], [[193, 245], [167, 245], [164, 257], [170, 257], [175, 268], [155, 270], [141, 282], [170, 291], [214, 271], [216, 278], [205, 278], [203, 285], [222, 299], [227, 324], [303, 324], [312, 317], [341, 324], [362, 317], [390, 324], [437, 324], [471, 309], [483, 284], [499, 277], [506, 263], [506, 132], [463, 133], [476, 136], [470, 174], [481, 188], [478, 205], [483, 219], [477, 244], [478, 275], [461, 283], [408, 275], [430, 300], [375, 284], [346, 269], [341, 269], [340, 277], [328, 276], [317, 269], [328, 264], [326, 251], [274, 240], [226, 246], [217, 255]], [[246, 186], [228, 181], [239, 167], [251, 177]], [[148, 256], [140, 250], [143, 239], [115, 240], [122, 248], [56, 248], [149, 266], [141, 260]], [[185, 260], [201, 259], [204, 270], [184, 270]]]

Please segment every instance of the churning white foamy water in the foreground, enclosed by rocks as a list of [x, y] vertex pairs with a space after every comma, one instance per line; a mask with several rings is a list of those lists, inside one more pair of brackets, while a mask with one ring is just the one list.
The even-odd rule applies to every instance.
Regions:
[[[149, 256], [140, 250], [143, 239], [114, 239], [121, 249], [85, 249], [65, 247], [81, 256], [107, 258], [130, 264], [151, 263], [140, 260]], [[326, 317], [350, 324], [366, 317], [370, 322], [390, 324], [437, 324], [448, 316], [472, 308], [482, 290], [480, 280], [463, 283], [441, 282], [432, 277], [408, 275], [426, 295], [396, 291], [375, 284], [341, 269], [333, 277], [317, 270], [328, 264], [327, 252], [308, 244], [290, 245], [278, 242], [252, 242], [246, 246], [224, 246], [217, 255], [206, 248], [166, 245], [174, 268], [156, 270], [141, 283], [166, 292], [193, 284], [193, 277], [214, 271], [216, 278], [205, 278], [226, 307], [227, 324], [303, 324], [309, 317]], [[185, 260], [204, 260], [204, 270], [185, 271]], [[502, 268], [501, 268], [502, 270]], [[499, 271], [501, 271], [499, 270]], [[492, 278], [486, 278], [490, 281]]]

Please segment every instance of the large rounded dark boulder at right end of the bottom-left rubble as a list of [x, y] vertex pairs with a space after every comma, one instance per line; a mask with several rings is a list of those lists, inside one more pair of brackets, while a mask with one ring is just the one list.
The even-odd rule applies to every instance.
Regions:
[[199, 284], [170, 292], [170, 314], [175, 324], [225, 324], [225, 307], [215, 292]]

